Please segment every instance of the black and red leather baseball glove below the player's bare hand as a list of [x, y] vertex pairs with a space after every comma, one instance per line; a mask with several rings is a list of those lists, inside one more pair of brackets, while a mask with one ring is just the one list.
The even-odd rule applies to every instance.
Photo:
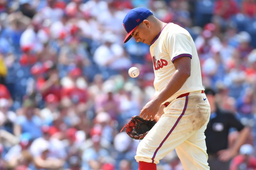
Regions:
[[156, 121], [153, 120], [144, 120], [140, 116], [132, 116], [132, 119], [124, 125], [122, 132], [124, 128], [126, 128], [126, 133], [133, 139], [143, 139], [148, 131], [156, 124]]

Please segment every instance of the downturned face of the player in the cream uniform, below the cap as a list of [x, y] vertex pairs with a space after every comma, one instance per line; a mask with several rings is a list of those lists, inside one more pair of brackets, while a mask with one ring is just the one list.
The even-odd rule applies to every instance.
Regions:
[[150, 36], [150, 23], [144, 21], [133, 31], [132, 36], [135, 38], [136, 42], [151, 45], [153, 39]]

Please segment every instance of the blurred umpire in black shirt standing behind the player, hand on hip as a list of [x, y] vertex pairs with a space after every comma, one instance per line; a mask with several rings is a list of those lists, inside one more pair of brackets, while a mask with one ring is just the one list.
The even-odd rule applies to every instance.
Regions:
[[[205, 88], [204, 93], [211, 106], [211, 116], [204, 132], [208, 153], [208, 163], [211, 170], [228, 170], [230, 160], [238, 153], [250, 132], [249, 127], [244, 127], [235, 115], [224, 111], [215, 102], [215, 91]], [[228, 146], [228, 133], [230, 128], [236, 128], [239, 136], [235, 144]]]

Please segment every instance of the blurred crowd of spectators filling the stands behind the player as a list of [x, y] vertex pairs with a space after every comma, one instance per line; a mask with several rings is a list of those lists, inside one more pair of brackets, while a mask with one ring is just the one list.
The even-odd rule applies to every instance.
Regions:
[[[0, 169], [138, 169], [120, 129], [155, 92], [149, 46], [123, 43], [139, 6], [189, 31], [203, 85], [251, 128], [240, 157], [255, 156], [255, 0], [0, 0]], [[158, 169], [182, 166], [172, 152]]]

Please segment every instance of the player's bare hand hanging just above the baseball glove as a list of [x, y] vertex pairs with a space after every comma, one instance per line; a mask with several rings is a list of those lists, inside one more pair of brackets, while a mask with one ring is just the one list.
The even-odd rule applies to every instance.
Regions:
[[145, 120], [154, 120], [156, 113], [159, 110], [161, 103], [156, 100], [150, 100], [140, 111], [140, 117]]

